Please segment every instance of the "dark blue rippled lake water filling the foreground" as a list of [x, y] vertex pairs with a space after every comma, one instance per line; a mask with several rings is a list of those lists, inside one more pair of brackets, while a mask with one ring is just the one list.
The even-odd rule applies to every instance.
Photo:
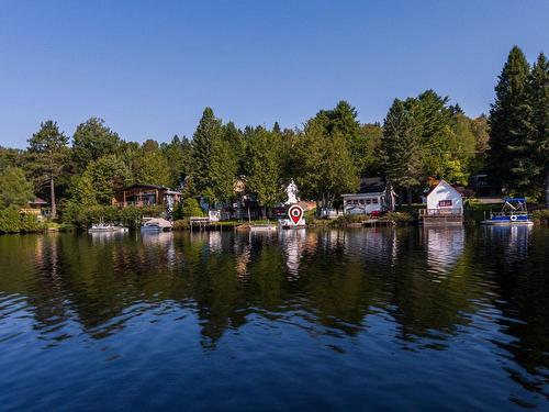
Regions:
[[0, 236], [0, 410], [549, 410], [547, 227]]

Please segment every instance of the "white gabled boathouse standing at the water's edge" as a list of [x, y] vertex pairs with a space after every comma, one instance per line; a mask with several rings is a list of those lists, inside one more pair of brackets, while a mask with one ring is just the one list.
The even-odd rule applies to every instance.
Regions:
[[419, 210], [419, 222], [424, 225], [463, 224], [463, 198], [445, 180], [440, 180], [425, 196], [425, 209]]

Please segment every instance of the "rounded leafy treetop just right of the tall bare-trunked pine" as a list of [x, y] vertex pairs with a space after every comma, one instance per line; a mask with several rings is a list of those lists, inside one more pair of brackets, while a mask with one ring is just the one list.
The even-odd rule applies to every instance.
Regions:
[[104, 125], [99, 118], [90, 118], [76, 127], [72, 136], [72, 160], [77, 171], [100, 157], [116, 154], [121, 145], [120, 136]]

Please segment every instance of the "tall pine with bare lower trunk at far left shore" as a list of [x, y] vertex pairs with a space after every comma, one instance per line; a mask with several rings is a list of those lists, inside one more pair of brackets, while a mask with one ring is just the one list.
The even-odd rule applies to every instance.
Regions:
[[41, 185], [49, 185], [52, 219], [57, 216], [55, 179], [59, 176], [67, 158], [68, 137], [59, 132], [57, 122], [48, 120], [41, 123], [40, 131], [29, 138], [29, 153], [33, 168]]

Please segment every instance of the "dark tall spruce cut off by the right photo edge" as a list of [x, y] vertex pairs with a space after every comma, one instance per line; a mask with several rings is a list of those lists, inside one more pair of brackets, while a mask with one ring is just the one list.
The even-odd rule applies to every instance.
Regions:
[[535, 187], [545, 187], [545, 203], [549, 209], [549, 62], [540, 53], [528, 80], [531, 105], [530, 144], [537, 171]]

